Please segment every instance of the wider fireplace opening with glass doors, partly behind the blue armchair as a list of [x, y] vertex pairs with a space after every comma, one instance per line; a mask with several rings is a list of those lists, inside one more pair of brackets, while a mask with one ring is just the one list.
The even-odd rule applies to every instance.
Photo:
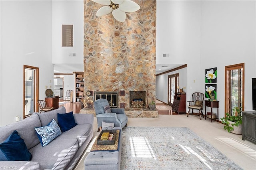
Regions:
[[111, 108], [118, 108], [118, 92], [95, 92], [95, 101], [98, 99], [107, 99]]

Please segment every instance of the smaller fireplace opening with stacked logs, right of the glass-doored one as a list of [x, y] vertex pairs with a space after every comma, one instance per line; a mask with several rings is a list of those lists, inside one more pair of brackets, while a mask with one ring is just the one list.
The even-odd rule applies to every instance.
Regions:
[[130, 107], [144, 108], [146, 106], [146, 91], [130, 91]]

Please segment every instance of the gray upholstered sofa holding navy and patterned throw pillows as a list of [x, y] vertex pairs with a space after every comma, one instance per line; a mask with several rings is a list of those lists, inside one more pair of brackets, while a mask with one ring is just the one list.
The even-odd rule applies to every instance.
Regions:
[[93, 115], [73, 114], [78, 124], [42, 147], [35, 127], [48, 125], [52, 119], [58, 123], [57, 113], [66, 113], [65, 107], [46, 113], [33, 113], [30, 117], [0, 127], [0, 143], [16, 130], [32, 154], [31, 161], [0, 161], [1, 167], [14, 167], [24, 170], [70, 170], [74, 168], [80, 156], [93, 136]]

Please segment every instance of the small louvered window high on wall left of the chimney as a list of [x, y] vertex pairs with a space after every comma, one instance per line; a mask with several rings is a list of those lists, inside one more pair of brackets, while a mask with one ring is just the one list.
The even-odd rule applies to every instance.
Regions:
[[62, 47], [73, 47], [73, 25], [62, 25]]

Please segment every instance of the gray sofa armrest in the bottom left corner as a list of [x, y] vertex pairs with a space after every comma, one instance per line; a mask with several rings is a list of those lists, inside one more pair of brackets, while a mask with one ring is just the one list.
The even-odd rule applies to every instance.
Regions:
[[38, 162], [8, 160], [0, 161], [0, 169], [40, 170], [41, 166]]

